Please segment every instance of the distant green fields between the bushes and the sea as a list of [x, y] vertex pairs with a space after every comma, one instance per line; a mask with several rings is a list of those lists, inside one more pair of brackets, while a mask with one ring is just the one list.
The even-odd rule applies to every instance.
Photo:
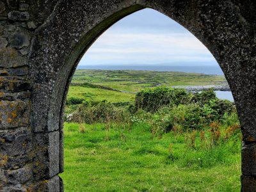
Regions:
[[[224, 76], [184, 72], [153, 72], [136, 70], [76, 70], [72, 83], [92, 83], [115, 90], [138, 92], [153, 86], [227, 84]], [[99, 88], [70, 86], [69, 97], [124, 102], [134, 99], [132, 93], [113, 92]]]

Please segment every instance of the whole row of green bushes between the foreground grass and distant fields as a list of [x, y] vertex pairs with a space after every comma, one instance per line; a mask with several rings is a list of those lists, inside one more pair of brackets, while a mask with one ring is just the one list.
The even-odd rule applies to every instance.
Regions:
[[161, 137], [173, 129], [203, 130], [211, 122], [228, 121], [233, 113], [236, 113], [234, 103], [216, 98], [213, 90], [193, 95], [184, 89], [161, 86], [138, 92], [134, 106], [129, 102], [84, 100], [72, 115], [72, 121], [150, 122], [154, 134]]

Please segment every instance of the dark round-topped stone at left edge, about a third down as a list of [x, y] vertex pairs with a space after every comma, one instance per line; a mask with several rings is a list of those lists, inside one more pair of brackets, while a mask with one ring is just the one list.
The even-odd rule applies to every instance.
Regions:
[[12, 47], [0, 48], [0, 67], [11, 68], [28, 65], [28, 59]]

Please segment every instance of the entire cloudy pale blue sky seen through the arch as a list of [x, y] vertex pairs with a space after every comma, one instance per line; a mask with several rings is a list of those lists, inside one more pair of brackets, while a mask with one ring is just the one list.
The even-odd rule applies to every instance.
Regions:
[[218, 65], [187, 29], [152, 9], [119, 20], [88, 49], [79, 65]]

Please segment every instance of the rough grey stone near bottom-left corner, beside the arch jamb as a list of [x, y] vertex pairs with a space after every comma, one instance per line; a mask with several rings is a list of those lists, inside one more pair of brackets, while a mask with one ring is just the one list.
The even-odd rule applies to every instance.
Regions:
[[24, 184], [31, 179], [32, 168], [28, 165], [17, 170], [7, 170], [5, 175], [8, 184]]

